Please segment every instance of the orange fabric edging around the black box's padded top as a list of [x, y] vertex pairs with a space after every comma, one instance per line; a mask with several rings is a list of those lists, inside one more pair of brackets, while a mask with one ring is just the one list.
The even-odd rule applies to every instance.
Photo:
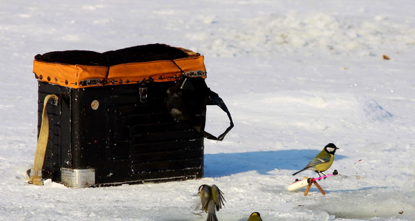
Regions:
[[203, 56], [185, 57], [173, 61], [148, 61], [115, 66], [86, 66], [33, 61], [33, 73], [39, 81], [71, 88], [86, 88], [114, 84], [175, 81], [184, 75], [206, 77]]

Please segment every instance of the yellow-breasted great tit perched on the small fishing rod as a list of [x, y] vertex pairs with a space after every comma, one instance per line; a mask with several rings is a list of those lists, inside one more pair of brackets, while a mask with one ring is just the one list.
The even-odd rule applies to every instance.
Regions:
[[[314, 159], [311, 160], [311, 162], [309, 162], [306, 167], [304, 167], [304, 169], [293, 173], [293, 175], [296, 175], [297, 173], [306, 170], [313, 170], [316, 173], [318, 173], [318, 175], [320, 175], [320, 173], [325, 175], [323, 172], [328, 170], [331, 164], [333, 164], [334, 153], [337, 149], [338, 147], [334, 144], [327, 144], [326, 146], [324, 146], [323, 150], [319, 154], [317, 154], [317, 156], [315, 156]], [[320, 177], [321, 176], [322, 175], [320, 175]]]

